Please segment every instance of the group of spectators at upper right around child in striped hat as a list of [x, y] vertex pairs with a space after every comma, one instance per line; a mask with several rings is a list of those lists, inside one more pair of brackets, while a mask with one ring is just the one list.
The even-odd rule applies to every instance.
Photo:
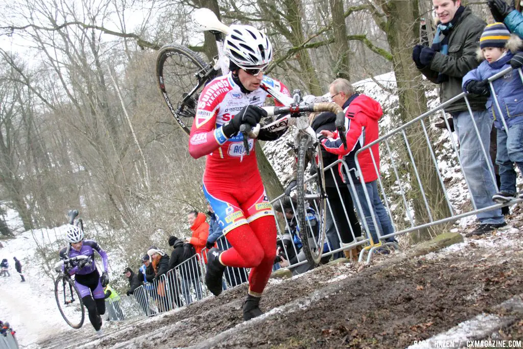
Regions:
[[[475, 208], [508, 202], [518, 197], [514, 164], [523, 170], [523, 88], [516, 71], [523, 64], [520, 4], [488, 0], [496, 21], [488, 26], [460, 0], [433, 0], [433, 5], [434, 40], [430, 46], [423, 40], [417, 44], [413, 61], [429, 81], [439, 85], [442, 103], [462, 91], [468, 93], [467, 100], [459, 99], [445, 111], [451, 115], [451, 131], [458, 136], [459, 157]], [[491, 90], [487, 79], [510, 66], [514, 71], [493, 81]], [[498, 166], [497, 183], [492, 181], [493, 161]], [[505, 226], [506, 213], [507, 209], [499, 208], [478, 213], [479, 224], [468, 236]]]

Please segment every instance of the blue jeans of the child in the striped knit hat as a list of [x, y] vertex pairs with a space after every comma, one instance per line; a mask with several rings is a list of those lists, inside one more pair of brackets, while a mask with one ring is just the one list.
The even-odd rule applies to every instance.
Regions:
[[523, 173], [523, 123], [512, 125], [508, 133], [505, 129], [497, 130], [496, 164], [499, 166], [499, 190], [502, 192], [516, 194], [514, 163]]

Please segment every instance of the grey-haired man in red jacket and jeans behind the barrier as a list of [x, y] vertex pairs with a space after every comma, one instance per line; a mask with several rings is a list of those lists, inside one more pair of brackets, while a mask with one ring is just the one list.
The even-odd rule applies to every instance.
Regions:
[[[394, 233], [389, 214], [383, 206], [376, 183], [380, 171], [379, 144], [372, 145], [370, 150], [366, 149], [358, 155], [361, 171], [357, 169], [355, 154], [360, 148], [378, 139], [378, 120], [383, 115], [383, 111], [376, 100], [355, 93], [353, 86], [343, 78], [336, 79], [329, 86], [329, 92], [333, 102], [345, 110], [347, 149], [344, 148], [337, 132], [321, 131], [320, 142], [326, 151], [337, 154], [338, 159], [345, 157], [349, 173], [346, 173], [343, 166], [340, 165], [340, 175], [350, 190], [360, 221], [370, 232], [371, 244], [377, 244], [379, 243], [377, 230], [380, 231], [381, 236]], [[351, 187], [348, 176], [352, 177], [356, 191]], [[365, 184], [369, 200], [366, 199], [362, 183]], [[374, 218], [376, 218], [377, 226], [372, 220], [371, 210]], [[362, 219], [363, 217], [365, 220]], [[395, 242], [393, 236], [385, 239], [385, 241]]]

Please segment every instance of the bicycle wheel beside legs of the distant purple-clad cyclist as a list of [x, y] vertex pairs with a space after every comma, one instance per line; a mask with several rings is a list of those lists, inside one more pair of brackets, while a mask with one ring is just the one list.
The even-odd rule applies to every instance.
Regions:
[[79, 329], [84, 324], [85, 307], [80, 292], [73, 280], [66, 275], [60, 275], [54, 282], [54, 298], [58, 310], [65, 322], [73, 329]]

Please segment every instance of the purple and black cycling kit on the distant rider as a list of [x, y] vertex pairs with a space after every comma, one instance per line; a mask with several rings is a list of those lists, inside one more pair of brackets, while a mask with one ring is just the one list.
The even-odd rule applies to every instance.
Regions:
[[88, 256], [90, 264], [83, 268], [78, 267], [78, 262], [72, 262], [73, 268], [69, 271], [69, 275], [75, 275], [75, 285], [80, 292], [80, 297], [84, 298], [93, 293], [93, 298], [104, 298], [104, 288], [101, 287], [100, 274], [96, 269], [94, 263], [94, 250], [98, 252], [104, 266], [104, 272], [107, 271], [107, 253], [93, 240], [84, 240], [80, 251], [76, 251], [72, 247], [69, 248], [69, 255], [67, 255], [67, 247], [60, 251], [60, 259], [77, 257], [79, 255]]

